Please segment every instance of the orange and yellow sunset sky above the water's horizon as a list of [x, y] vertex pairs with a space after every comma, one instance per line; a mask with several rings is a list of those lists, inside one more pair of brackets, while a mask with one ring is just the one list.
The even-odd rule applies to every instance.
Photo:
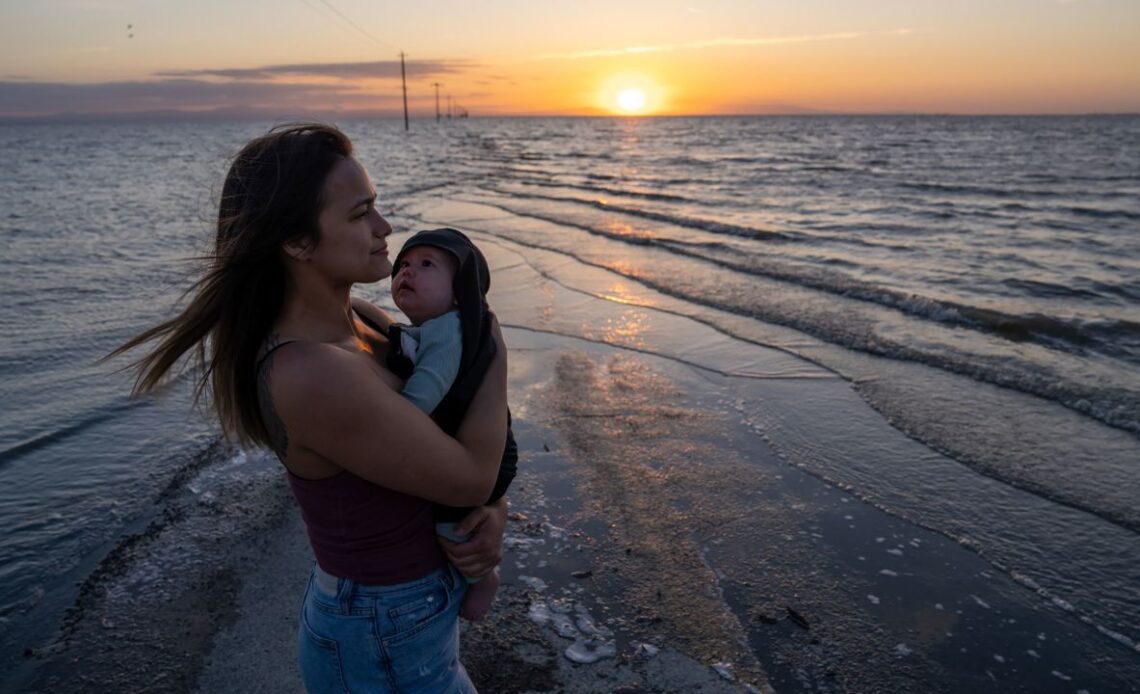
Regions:
[[1137, 113], [1140, 0], [0, 0], [0, 116]]

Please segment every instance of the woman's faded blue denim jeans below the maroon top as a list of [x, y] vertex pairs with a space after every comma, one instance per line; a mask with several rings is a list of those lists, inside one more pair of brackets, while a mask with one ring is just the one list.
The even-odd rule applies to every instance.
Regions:
[[360, 586], [314, 566], [298, 635], [306, 688], [311, 694], [474, 693], [459, 663], [458, 615], [466, 589], [450, 564], [396, 586]]

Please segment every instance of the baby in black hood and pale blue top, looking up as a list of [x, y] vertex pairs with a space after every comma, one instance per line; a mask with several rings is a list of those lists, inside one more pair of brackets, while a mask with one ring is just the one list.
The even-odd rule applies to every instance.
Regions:
[[[388, 366], [407, 378], [404, 395], [455, 434], [495, 357], [487, 289], [490, 271], [483, 254], [455, 229], [420, 231], [404, 244], [393, 263], [392, 300], [412, 321], [389, 329]], [[510, 417], [510, 415], [508, 415]], [[507, 421], [506, 449], [495, 489], [499, 499], [514, 479], [518, 447]], [[435, 506], [435, 532], [464, 542], [456, 525], [470, 508]], [[498, 590], [498, 570], [471, 583], [461, 614], [479, 620]]]

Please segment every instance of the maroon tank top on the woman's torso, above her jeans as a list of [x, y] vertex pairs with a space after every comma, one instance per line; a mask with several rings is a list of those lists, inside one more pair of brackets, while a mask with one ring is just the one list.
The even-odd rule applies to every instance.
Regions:
[[431, 503], [348, 471], [323, 480], [288, 473], [320, 568], [367, 586], [423, 578], [446, 565]]

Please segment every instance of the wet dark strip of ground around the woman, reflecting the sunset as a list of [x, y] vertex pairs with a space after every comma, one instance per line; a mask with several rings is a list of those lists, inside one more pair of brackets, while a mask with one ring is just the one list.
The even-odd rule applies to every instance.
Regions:
[[[789, 421], [814, 413], [821, 446], [839, 430], [854, 449], [890, 436], [915, 460], [935, 455], [848, 382], [605, 270], [477, 240], [511, 348], [521, 455], [496, 609], [463, 626], [480, 691], [1134, 687], [1129, 648], [1090, 662], [1104, 635], [969, 546], [801, 470], [758, 422], [763, 402]], [[215, 458], [229, 463], [201, 474], [241, 475], [222, 488], [234, 498], [171, 484], [170, 511], [87, 577], [11, 691], [302, 689], [303, 528], [272, 460]]]

